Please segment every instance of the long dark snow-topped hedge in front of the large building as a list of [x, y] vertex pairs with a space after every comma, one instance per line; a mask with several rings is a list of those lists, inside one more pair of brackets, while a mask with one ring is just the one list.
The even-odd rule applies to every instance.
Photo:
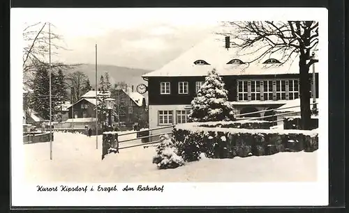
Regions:
[[174, 127], [172, 136], [177, 141], [179, 155], [186, 161], [198, 160], [202, 152], [211, 158], [233, 158], [318, 149], [317, 129], [237, 129], [205, 125], [207, 123], [186, 123]]

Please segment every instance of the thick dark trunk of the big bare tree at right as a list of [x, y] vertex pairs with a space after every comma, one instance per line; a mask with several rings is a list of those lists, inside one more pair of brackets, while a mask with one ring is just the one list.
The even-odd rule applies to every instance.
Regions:
[[306, 65], [306, 57], [302, 55], [299, 56], [299, 74], [301, 127], [304, 130], [309, 130], [311, 128], [309, 67]]

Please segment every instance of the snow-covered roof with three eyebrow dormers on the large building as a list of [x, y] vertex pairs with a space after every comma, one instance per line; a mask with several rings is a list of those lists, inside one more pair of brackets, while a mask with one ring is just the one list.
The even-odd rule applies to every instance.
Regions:
[[[258, 58], [268, 47], [253, 46], [241, 50], [238, 48], [225, 49], [224, 36], [210, 36], [198, 45], [191, 47], [187, 52], [181, 54], [178, 58], [170, 61], [162, 68], [142, 75], [142, 77], [161, 77], [161, 76], [207, 76], [207, 72], [216, 69], [220, 75], [253, 75], [253, 74], [297, 74], [299, 73], [298, 57], [293, 54], [289, 60], [286, 60], [290, 54], [276, 52], [266, 54], [257, 61]], [[267, 59], [275, 58], [283, 65], [265, 64]], [[239, 59], [246, 64], [227, 64], [232, 59]], [[197, 60], [204, 60], [209, 65], [195, 65]], [[253, 61], [253, 62], [252, 62]], [[247, 63], [251, 62], [251, 63]]]

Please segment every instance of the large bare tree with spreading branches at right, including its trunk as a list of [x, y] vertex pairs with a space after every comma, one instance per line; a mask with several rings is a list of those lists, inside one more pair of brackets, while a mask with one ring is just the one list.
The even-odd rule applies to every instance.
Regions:
[[[288, 21], [288, 22], [224, 22], [223, 26], [233, 29], [232, 47], [246, 50], [257, 46], [253, 52], [257, 56], [248, 63], [279, 52], [284, 65], [286, 61], [299, 57], [299, 83], [302, 129], [310, 128], [310, 79], [309, 68], [318, 62], [311, 55], [318, 45], [318, 22]], [[227, 34], [227, 33], [220, 33]]]

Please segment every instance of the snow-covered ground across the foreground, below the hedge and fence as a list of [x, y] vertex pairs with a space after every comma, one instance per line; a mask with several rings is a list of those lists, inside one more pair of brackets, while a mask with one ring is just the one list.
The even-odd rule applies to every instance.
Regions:
[[[135, 138], [135, 134], [119, 140]], [[317, 152], [283, 152], [262, 157], [203, 159], [179, 168], [158, 170], [155, 148], [119, 150], [101, 160], [102, 136], [54, 133], [50, 144], [24, 145], [25, 179], [29, 182], [292, 182], [316, 181]], [[120, 143], [120, 147], [140, 140]]]

